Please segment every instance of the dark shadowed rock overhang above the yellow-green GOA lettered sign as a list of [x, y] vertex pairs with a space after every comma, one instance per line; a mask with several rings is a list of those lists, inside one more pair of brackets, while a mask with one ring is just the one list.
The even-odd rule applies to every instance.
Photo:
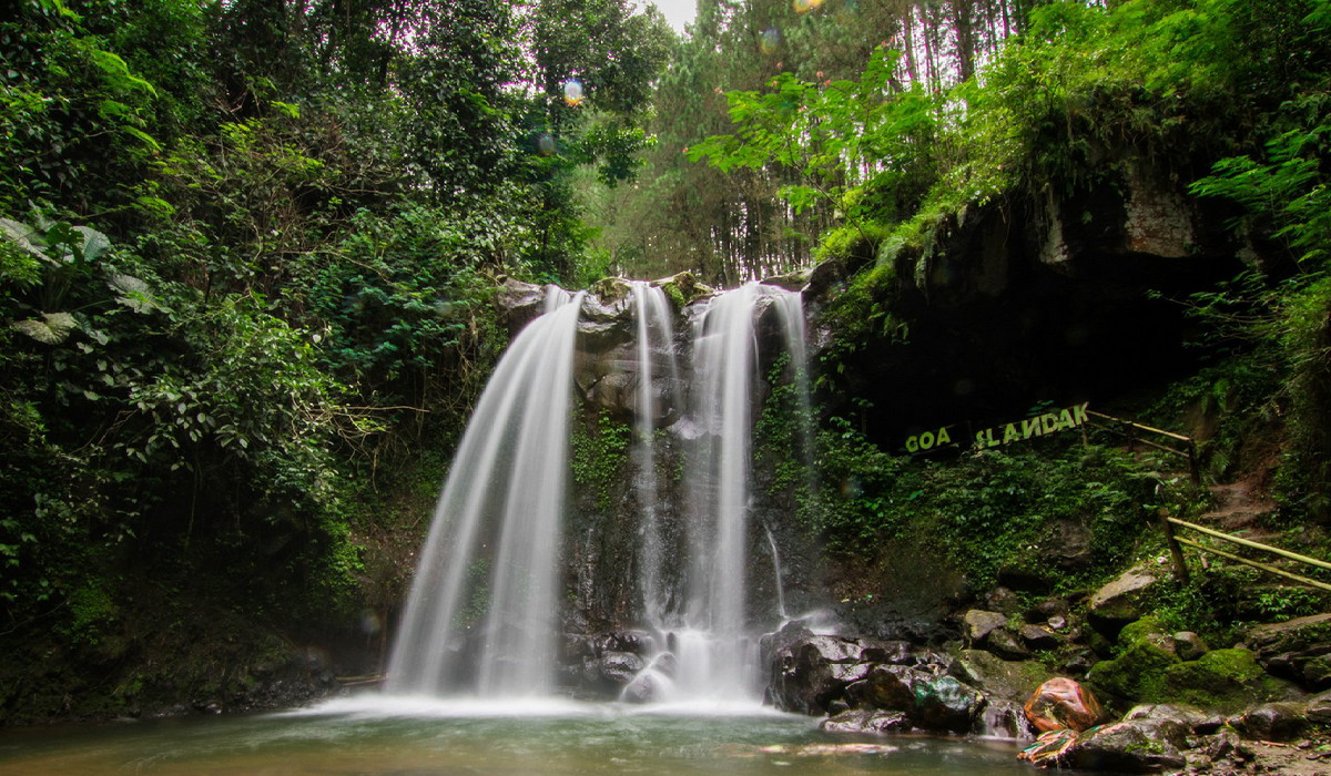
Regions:
[[[910, 346], [868, 342], [845, 371], [849, 393], [878, 407], [868, 417], [870, 435], [904, 439], [909, 425], [1001, 417], [1087, 386], [1113, 395], [1195, 363], [1186, 318], [1146, 291], [1210, 290], [1242, 270], [1242, 245], [1215, 205], [1187, 197], [1167, 165], [1105, 152], [1091, 178], [962, 209], [941, 218], [921, 248], [878, 256], [894, 270], [892, 313], [909, 325]], [[1133, 370], [1115, 367], [1122, 363]], [[1062, 563], [1089, 558], [1073, 551]]]

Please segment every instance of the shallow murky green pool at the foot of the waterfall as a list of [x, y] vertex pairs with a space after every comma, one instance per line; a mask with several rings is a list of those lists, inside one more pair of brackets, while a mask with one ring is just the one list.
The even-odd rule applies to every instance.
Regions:
[[480, 703], [367, 695], [252, 716], [0, 731], [0, 773], [998, 776], [1017, 744], [847, 737], [760, 707]]

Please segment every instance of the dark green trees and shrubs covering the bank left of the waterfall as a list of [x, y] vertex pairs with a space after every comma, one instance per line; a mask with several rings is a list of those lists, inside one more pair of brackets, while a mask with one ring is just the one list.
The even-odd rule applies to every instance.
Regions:
[[587, 281], [568, 186], [631, 177], [669, 40], [622, 0], [17, 4], [0, 631], [68, 650], [5, 692], [395, 606], [495, 278]]

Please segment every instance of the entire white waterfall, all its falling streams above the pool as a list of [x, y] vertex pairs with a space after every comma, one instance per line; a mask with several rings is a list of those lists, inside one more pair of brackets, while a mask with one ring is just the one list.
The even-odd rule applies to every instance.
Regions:
[[[752, 426], [764, 363], [757, 321], [775, 307], [807, 410], [800, 295], [747, 284], [697, 302], [688, 379], [681, 381], [666, 294], [643, 282], [630, 284], [628, 293], [636, 369], [631, 458], [640, 512], [631, 519], [638, 522], [644, 618], [636, 627], [656, 636], [650, 696], [756, 704], [763, 692], [759, 636], [785, 614], [776, 538], [771, 526], [751, 519]], [[539, 697], [556, 691], [568, 423], [583, 299], [583, 293], [548, 286], [544, 314], [518, 334], [486, 386], [419, 558], [390, 656], [389, 693]], [[658, 473], [667, 421], [684, 451], [684, 494], [675, 499], [664, 498]], [[681, 530], [666, 531], [667, 520]], [[681, 538], [672, 544], [668, 536]], [[751, 600], [755, 551], [755, 562], [769, 555], [764, 566], [776, 571], [775, 610]], [[676, 556], [667, 572], [667, 559]]]

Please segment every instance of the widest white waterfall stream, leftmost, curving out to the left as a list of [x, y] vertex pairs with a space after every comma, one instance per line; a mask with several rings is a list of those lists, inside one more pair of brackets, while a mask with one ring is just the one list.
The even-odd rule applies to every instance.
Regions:
[[389, 692], [554, 689], [582, 298], [547, 295], [550, 311], [518, 334], [476, 405], [417, 564], [389, 659]]

